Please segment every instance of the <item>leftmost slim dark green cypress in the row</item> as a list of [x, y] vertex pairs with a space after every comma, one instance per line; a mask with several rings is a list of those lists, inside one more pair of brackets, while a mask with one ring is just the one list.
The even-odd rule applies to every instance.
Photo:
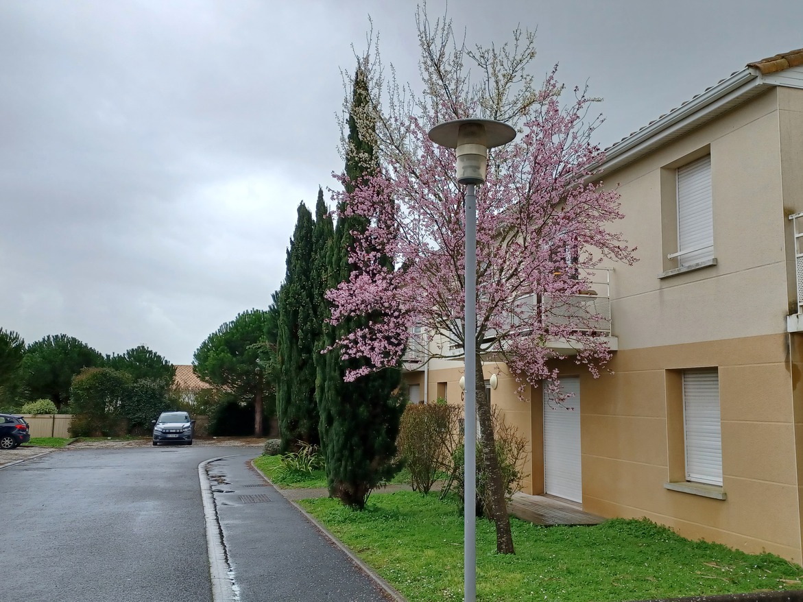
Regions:
[[287, 250], [287, 272], [279, 295], [276, 401], [283, 449], [295, 447], [300, 442], [319, 443], [313, 354], [320, 325], [310, 270], [313, 230], [312, 214], [301, 203], [296, 230]]

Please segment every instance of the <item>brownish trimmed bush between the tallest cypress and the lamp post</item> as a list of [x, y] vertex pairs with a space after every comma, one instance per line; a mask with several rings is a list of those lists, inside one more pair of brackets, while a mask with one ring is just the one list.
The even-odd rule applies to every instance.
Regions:
[[414, 491], [428, 494], [438, 473], [449, 470], [447, 439], [458, 429], [459, 408], [454, 405], [408, 405], [399, 425], [397, 446], [410, 470]]

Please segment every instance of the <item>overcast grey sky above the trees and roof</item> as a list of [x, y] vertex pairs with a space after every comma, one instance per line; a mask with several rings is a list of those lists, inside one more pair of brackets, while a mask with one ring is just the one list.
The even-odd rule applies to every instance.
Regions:
[[[430, 0], [430, 16], [444, 0]], [[340, 69], [417, 76], [414, 0], [0, 0], [0, 327], [173, 364], [267, 309], [300, 201], [343, 165]], [[803, 2], [452, 0], [468, 43], [537, 28], [607, 146], [748, 62], [803, 47]]]

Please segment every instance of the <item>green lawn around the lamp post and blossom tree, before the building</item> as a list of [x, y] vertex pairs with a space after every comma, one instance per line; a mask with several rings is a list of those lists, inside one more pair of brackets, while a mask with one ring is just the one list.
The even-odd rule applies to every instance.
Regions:
[[[435, 494], [372, 494], [365, 511], [300, 502], [410, 602], [463, 599], [463, 519]], [[477, 600], [603, 602], [801, 588], [803, 569], [774, 555], [692, 542], [643, 520], [538, 527], [512, 519], [516, 555], [495, 553], [477, 523]]]

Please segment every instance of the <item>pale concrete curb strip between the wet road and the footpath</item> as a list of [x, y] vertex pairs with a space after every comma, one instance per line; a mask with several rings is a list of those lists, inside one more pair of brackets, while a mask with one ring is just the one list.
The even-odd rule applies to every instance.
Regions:
[[214, 503], [212, 485], [209, 481], [209, 474], [206, 473], [206, 466], [224, 458], [234, 458], [234, 456], [221, 456], [201, 462], [198, 465], [198, 482], [201, 484], [203, 518], [206, 523], [206, 549], [209, 554], [212, 600], [213, 602], [236, 602], [238, 596], [234, 594], [234, 568], [226, 555], [223, 533], [218, 521], [218, 506]]

